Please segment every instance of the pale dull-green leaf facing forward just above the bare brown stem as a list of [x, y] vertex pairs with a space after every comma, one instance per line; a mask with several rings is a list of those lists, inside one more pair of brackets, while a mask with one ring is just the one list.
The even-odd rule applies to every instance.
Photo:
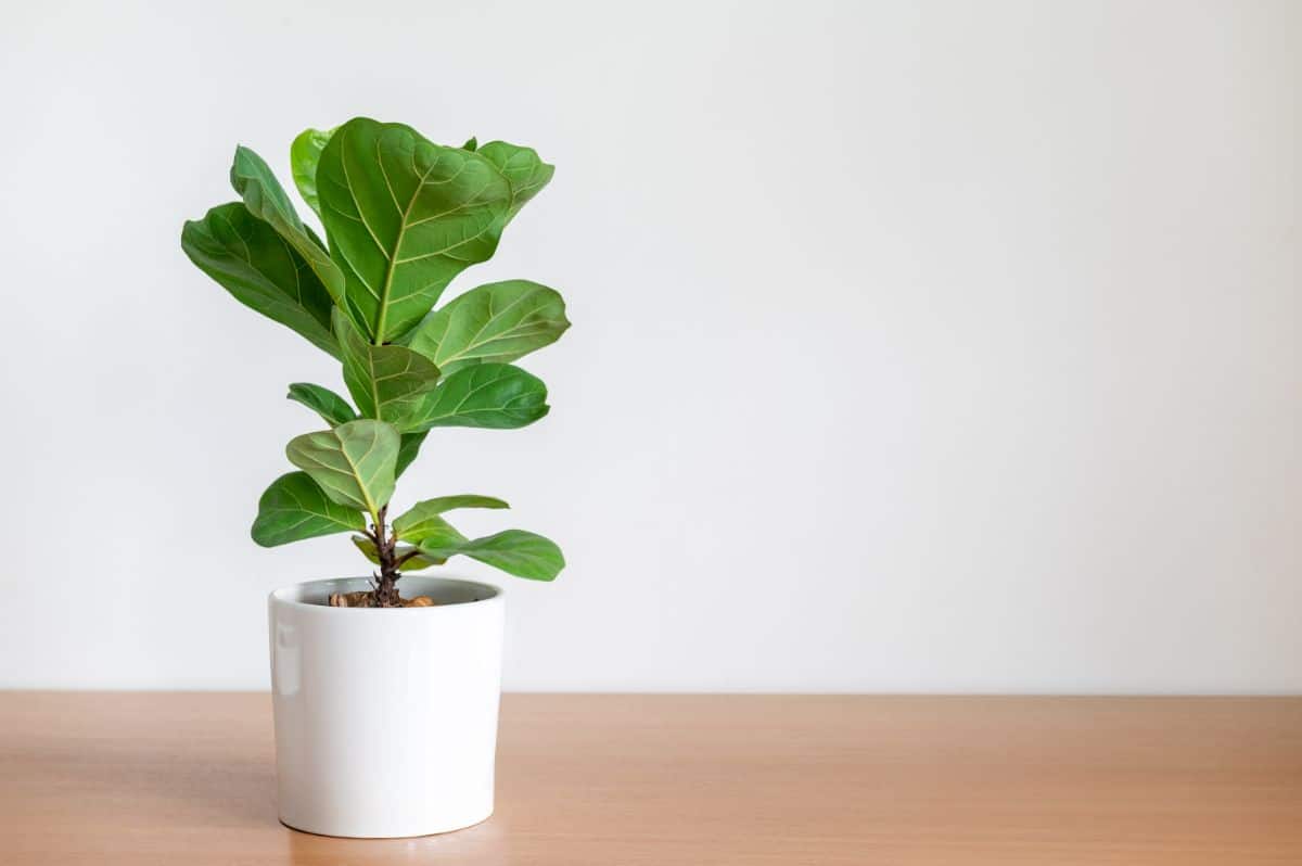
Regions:
[[285, 454], [331, 500], [375, 516], [393, 495], [398, 431], [383, 421], [349, 421], [333, 430], [296, 436]]

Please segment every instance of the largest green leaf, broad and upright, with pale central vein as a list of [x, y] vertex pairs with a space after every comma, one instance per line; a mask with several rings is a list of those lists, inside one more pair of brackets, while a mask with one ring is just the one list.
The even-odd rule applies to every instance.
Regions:
[[316, 193], [348, 302], [371, 342], [402, 336], [452, 277], [492, 257], [527, 201], [499, 168], [523, 177], [518, 161], [505, 148], [493, 161], [366, 117], [335, 130], [316, 167]]

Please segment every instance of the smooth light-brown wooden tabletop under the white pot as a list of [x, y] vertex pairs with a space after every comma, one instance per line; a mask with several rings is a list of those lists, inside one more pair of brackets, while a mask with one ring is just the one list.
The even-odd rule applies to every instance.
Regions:
[[1299, 698], [508, 695], [497, 814], [276, 822], [266, 694], [0, 691], [0, 863], [1302, 863]]

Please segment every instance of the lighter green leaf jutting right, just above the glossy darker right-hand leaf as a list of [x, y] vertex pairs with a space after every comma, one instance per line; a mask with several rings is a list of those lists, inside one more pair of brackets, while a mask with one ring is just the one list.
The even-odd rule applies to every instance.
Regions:
[[470, 289], [426, 316], [408, 345], [450, 375], [471, 363], [514, 361], [555, 342], [569, 324], [559, 292], [506, 280]]

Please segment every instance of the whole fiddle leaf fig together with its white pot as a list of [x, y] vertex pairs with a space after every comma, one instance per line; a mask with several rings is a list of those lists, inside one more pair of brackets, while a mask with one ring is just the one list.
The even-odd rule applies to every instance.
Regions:
[[324, 428], [290, 440], [297, 468], [258, 503], [262, 546], [349, 533], [371, 577], [271, 594], [281, 820], [332, 836], [415, 836], [487, 818], [501, 681], [503, 598], [487, 583], [409, 572], [467, 556], [551, 581], [560, 548], [508, 529], [467, 538], [447, 514], [506, 508], [482, 495], [392, 507], [395, 482], [437, 427], [516, 428], [548, 412], [514, 366], [569, 327], [555, 290], [480, 285], [434, 309], [461, 271], [552, 177], [527, 147], [435, 145], [353, 119], [290, 147], [294, 182], [326, 240], [267, 164], [238, 147], [241, 201], [189, 221], [181, 246], [208, 276], [339, 359], [352, 402], [318, 384], [289, 398]]

